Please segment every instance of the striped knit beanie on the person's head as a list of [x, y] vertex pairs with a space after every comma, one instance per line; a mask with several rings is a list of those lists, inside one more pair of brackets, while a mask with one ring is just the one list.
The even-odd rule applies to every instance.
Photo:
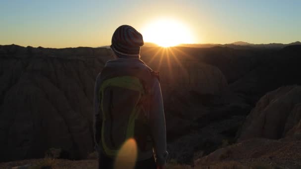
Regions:
[[135, 28], [121, 25], [112, 36], [111, 48], [118, 57], [139, 58], [143, 44], [143, 37]]

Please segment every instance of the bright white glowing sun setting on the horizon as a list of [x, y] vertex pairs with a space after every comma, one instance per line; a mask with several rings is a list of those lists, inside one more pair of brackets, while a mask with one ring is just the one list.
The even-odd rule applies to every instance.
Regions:
[[162, 47], [193, 43], [190, 30], [184, 24], [172, 19], [151, 22], [142, 30], [142, 35], [145, 42], [153, 42]]

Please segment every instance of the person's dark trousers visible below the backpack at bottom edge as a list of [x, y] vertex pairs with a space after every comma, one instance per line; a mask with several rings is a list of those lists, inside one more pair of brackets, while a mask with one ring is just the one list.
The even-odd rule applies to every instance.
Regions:
[[[114, 159], [99, 154], [98, 165], [99, 169], [113, 169]], [[136, 162], [135, 169], [156, 169], [154, 158]]]

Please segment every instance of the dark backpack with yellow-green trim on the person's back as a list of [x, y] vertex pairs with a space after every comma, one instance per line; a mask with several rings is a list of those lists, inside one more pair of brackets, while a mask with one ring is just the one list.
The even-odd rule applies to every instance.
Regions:
[[138, 153], [152, 150], [148, 125], [152, 84], [158, 74], [147, 66], [104, 67], [99, 90], [102, 112], [101, 145], [114, 158], [123, 143], [134, 138]]

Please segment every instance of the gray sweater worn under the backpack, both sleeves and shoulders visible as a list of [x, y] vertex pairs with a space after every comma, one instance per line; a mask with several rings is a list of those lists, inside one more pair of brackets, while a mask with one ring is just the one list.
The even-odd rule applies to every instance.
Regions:
[[[116, 60], [108, 61], [105, 67], [122, 67], [122, 66], [134, 66], [134, 67], [147, 67], [146, 64], [140, 59], [125, 59], [119, 58]], [[147, 67], [149, 68], [149, 67]], [[150, 69], [150, 68], [149, 68]], [[95, 92], [94, 92], [94, 136], [95, 136], [95, 144], [96, 147], [100, 142], [100, 132], [101, 132], [101, 110], [99, 109], [100, 98], [99, 98], [99, 90], [101, 85], [101, 73], [98, 75], [96, 84], [95, 84]], [[165, 117], [163, 110], [163, 100], [161, 94], [160, 84], [157, 78], [154, 78], [153, 81], [153, 97], [151, 100], [152, 107], [150, 108], [150, 128], [151, 128], [151, 136], [153, 139], [153, 148], [154, 152], [144, 152], [139, 154], [138, 161], [146, 160], [151, 158], [151, 156], [155, 155], [156, 163], [159, 165], [163, 165], [166, 162], [166, 158], [168, 153], [166, 151], [166, 128], [165, 128]], [[98, 148], [101, 150], [101, 147]]]

